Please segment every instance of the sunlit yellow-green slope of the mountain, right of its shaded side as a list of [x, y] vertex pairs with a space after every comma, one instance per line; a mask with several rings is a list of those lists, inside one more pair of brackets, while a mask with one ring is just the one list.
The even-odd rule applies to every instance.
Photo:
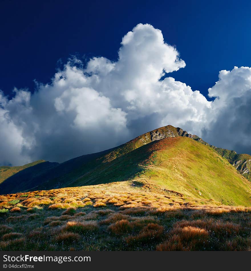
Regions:
[[250, 182], [209, 146], [188, 137], [161, 139], [153, 146], [155, 161], [141, 179], [191, 197], [251, 205]]

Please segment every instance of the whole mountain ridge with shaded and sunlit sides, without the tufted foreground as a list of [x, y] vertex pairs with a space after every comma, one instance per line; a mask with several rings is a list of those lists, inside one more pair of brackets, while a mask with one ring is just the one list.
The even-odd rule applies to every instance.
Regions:
[[214, 147], [170, 125], [60, 164], [40, 160], [22, 167], [0, 167], [1, 194], [121, 181], [251, 206], [251, 156]]

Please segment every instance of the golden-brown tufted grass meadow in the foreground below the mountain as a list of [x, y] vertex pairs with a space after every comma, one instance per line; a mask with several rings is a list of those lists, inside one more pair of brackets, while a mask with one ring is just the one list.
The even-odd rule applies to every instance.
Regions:
[[0, 250], [251, 250], [250, 207], [142, 179], [3, 195], [0, 206]]

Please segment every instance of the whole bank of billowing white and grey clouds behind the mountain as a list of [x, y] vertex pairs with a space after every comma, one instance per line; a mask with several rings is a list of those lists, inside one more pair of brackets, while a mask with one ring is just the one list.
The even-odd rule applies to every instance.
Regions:
[[8, 100], [1, 93], [0, 164], [62, 162], [167, 124], [222, 147], [250, 148], [250, 68], [221, 71], [209, 102], [165, 76], [184, 67], [159, 29], [139, 24], [123, 37], [116, 62], [69, 60], [34, 94], [15, 89]]

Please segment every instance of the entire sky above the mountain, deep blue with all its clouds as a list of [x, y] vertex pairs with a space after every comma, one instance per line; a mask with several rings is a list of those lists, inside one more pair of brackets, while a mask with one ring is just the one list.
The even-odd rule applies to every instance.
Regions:
[[251, 154], [250, 8], [0, 1], [0, 165], [62, 162], [169, 124]]

